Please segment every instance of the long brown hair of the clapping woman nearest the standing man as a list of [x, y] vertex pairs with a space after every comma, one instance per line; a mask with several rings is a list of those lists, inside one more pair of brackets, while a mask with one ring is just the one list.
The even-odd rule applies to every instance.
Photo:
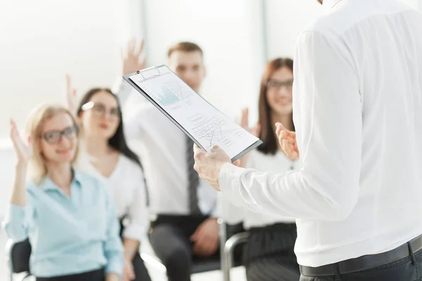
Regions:
[[[269, 107], [267, 100], [267, 83], [271, 76], [279, 70], [281, 67], [288, 67], [293, 72], [293, 60], [291, 58], [276, 58], [267, 63], [264, 74], [262, 75], [261, 87], [260, 87], [260, 102], [259, 102], [259, 123], [261, 126], [260, 139], [263, 141], [257, 150], [264, 154], [276, 154], [277, 143], [279, 142], [276, 138], [274, 131], [274, 124], [271, 121], [271, 108]], [[292, 113], [293, 117], [293, 113]], [[292, 118], [293, 119], [293, 118]], [[286, 125], [286, 124], [284, 124]], [[295, 126], [292, 121], [293, 131]]]

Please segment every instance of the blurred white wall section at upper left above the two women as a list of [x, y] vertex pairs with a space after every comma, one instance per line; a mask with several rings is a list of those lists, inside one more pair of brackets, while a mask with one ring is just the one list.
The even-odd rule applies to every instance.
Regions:
[[[127, 39], [123, 1], [0, 1], [0, 138], [39, 102], [63, 102], [69, 72], [79, 94], [110, 86]], [[7, 103], [5, 102], [6, 98]]]

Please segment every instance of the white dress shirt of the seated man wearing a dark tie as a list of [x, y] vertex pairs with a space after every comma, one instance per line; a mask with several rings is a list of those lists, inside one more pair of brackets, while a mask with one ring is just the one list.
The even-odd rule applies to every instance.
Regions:
[[[132, 90], [122, 79], [117, 79], [113, 88], [122, 104]], [[141, 93], [134, 94], [124, 107], [124, 133], [141, 157], [151, 217], [189, 215], [186, 135]], [[203, 214], [218, 216], [217, 192], [202, 180], [198, 186], [198, 205]]]

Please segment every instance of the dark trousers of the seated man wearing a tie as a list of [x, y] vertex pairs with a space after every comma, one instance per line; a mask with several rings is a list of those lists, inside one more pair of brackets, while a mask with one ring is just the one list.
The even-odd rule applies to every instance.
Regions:
[[[149, 240], [158, 259], [167, 268], [169, 281], [191, 280], [193, 257], [191, 235], [208, 216], [158, 216], [151, 222]], [[217, 253], [218, 255], [218, 253]]]

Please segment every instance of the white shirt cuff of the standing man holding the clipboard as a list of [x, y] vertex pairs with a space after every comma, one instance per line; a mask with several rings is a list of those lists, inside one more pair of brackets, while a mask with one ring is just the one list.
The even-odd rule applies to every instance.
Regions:
[[219, 188], [225, 200], [229, 200], [236, 206], [242, 206], [241, 202], [241, 176], [245, 169], [226, 163], [219, 171]]

